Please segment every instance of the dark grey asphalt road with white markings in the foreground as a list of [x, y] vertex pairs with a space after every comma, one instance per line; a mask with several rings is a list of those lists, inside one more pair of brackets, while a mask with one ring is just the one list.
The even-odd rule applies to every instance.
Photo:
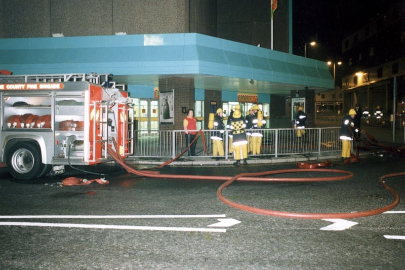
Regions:
[[[293, 168], [295, 164], [171, 166], [159, 172], [233, 176]], [[286, 212], [365, 211], [393, 201], [378, 178], [404, 168], [403, 158], [363, 158], [357, 164], [330, 167], [352, 172], [347, 180], [237, 181], [223, 195]], [[223, 181], [139, 177], [113, 165], [92, 170], [109, 174], [109, 184], [58, 184], [70, 175], [97, 178], [76, 172], [30, 181], [0, 172], [0, 268], [403, 269], [405, 265], [402, 201], [389, 212], [337, 223], [283, 218], [222, 203], [216, 191]], [[283, 176], [319, 175], [335, 176], [316, 171]], [[404, 180], [386, 180], [400, 198], [405, 197]]]

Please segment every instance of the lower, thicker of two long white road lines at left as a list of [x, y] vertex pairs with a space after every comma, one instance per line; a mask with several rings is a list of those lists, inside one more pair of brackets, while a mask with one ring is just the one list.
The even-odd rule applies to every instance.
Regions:
[[226, 229], [214, 228], [189, 228], [189, 227], [152, 227], [152, 226], [127, 226], [103, 224], [74, 224], [74, 223], [42, 223], [42, 222], [0, 222], [3, 226], [39, 226], [39, 227], [69, 227], [69, 228], [99, 228], [99, 229], [132, 229], [132, 230], [169, 230], [175, 232], [210, 232], [226, 233]]

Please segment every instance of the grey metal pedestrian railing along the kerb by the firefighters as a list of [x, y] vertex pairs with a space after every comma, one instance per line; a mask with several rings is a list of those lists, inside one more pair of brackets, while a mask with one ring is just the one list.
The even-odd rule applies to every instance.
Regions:
[[[217, 131], [201, 130], [196, 140], [198, 157], [213, 157], [211, 135]], [[260, 153], [254, 157], [278, 157], [281, 155], [316, 154], [341, 149], [340, 127], [308, 128], [305, 135], [297, 137], [297, 129], [259, 129], [262, 137]], [[224, 132], [225, 156], [232, 157], [229, 149], [229, 131]], [[186, 148], [184, 130], [135, 131], [134, 156], [140, 158], [175, 158]], [[186, 156], [183, 154], [183, 156]]]

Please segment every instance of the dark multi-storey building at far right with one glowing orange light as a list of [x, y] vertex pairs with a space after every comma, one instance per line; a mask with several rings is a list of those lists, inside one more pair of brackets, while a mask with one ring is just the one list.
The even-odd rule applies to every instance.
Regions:
[[[405, 101], [405, 1], [365, 21], [342, 40], [344, 111], [359, 103], [371, 112], [401, 112]], [[395, 78], [395, 79], [394, 79]], [[397, 84], [394, 96], [394, 81]], [[394, 97], [396, 103], [393, 104]], [[405, 105], [404, 105], [405, 106]], [[393, 111], [395, 107], [395, 111]]]

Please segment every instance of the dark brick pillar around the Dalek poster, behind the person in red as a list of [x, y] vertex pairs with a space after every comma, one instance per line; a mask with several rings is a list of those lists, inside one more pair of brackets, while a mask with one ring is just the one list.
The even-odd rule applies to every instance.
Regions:
[[159, 91], [166, 90], [174, 90], [174, 125], [161, 123], [159, 130], [182, 130], [183, 120], [187, 115], [182, 112], [182, 107], [195, 109], [194, 79], [179, 76], [159, 79]]

